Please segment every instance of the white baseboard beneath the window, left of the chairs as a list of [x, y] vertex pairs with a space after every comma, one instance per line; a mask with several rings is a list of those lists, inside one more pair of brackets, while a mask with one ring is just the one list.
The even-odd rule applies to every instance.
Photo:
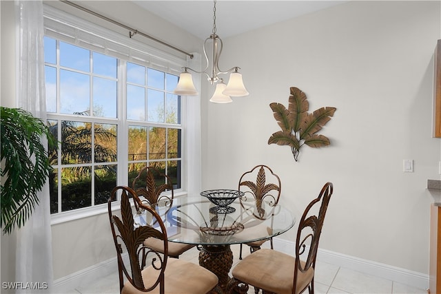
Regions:
[[72, 293], [72, 290], [78, 288], [78, 285], [92, 284], [92, 282], [114, 273], [117, 268], [116, 258], [94, 264], [86, 269], [54, 280], [52, 293]]

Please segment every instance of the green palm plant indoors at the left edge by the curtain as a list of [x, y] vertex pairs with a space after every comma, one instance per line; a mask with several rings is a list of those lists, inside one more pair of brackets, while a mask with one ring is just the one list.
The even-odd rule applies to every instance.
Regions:
[[3, 233], [20, 228], [39, 204], [41, 191], [51, 169], [48, 145], [57, 145], [43, 120], [23, 109], [0, 107], [1, 112], [1, 216]]

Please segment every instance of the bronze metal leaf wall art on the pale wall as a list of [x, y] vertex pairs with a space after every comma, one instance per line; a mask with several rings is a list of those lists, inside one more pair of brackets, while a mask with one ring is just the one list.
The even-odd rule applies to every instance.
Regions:
[[308, 113], [309, 103], [306, 94], [297, 87], [290, 87], [289, 92], [288, 109], [280, 103], [269, 105], [282, 130], [269, 137], [268, 145], [288, 145], [291, 147], [294, 160], [297, 161], [303, 145], [317, 148], [330, 144], [327, 137], [316, 133], [331, 120], [336, 107], [322, 107]]

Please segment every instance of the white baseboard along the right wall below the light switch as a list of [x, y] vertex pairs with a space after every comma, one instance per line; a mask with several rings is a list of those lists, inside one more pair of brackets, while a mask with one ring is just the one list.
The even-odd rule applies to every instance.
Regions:
[[[287, 254], [294, 255], [294, 242], [274, 238], [274, 248]], [[418, 273], [416, 271], [409, 271], [407, 269], [401, 269], [396, 266], [381, 264], [371, 260], [363, 260], [362, 258], [356, 258], [325, 249], [318, 249], [317, 260], [336, 264], [346, 269], [359, 271], [360, 273], [365, 273], [367, 275], [382, 277], [401, 284], [407, 284], [416, 288], [429, 288], [429, 275]]]

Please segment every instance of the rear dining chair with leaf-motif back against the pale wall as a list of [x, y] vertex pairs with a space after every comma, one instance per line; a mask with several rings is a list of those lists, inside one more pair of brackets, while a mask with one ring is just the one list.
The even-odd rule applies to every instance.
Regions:
[[[278, 203], [281, 187], [280, 178], [269, 167], [266, 165], [256, 165], [252, 170], [245, 172], [239, 179], [238, 190], [244, 192], [240, 202], [254, 201], [256, 202], [257, 211], [259, 211], [263, 201], [269, 202], [270, 205]], [[253, 253], [260, 249], [260, 246], [267, 242], [267, 240], [269, 240], [271, 249], [273, 249], [273, 238], [245, 244], [249, 246], [249, 252]], [[242, 249], [243, 244], [240, 243], [239, 260], [242, 259]]]

